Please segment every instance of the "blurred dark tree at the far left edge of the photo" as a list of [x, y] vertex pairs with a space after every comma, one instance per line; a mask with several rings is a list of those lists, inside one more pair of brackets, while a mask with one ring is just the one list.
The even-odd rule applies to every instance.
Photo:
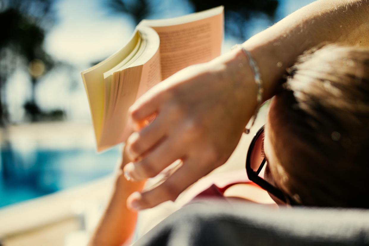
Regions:
[[8, 0], [3, 1], [0, 13], [0, 126], [8, 121], [4, 86], [6, 78], [24, 61], [30, 72], [32, 83], [31, 100], [25, 110], [36, 120], [39, 108], [35, 103], [35, 86], [38, 79], [54, 66], [52, 58], [44, 51], [42, 44], [45, 32], [54, 22], [51, 10], [52, 0]]

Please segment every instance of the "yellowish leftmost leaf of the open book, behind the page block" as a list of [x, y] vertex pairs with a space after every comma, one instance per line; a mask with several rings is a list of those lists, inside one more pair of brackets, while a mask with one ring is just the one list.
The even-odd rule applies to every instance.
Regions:
[[83, 83], [85, 84], [87, 98], [90, 104], [92, 123], [97, 144], [100, 141], [104, 115], [105, 95], [103, 73], [107, 72], [124, 60], [124, 58], [127, 57], [136, 46], [138, 38], [138, 32], [135, 31], [128, 44], [122, 49], [111, 55], [109, 58], [81, 73]]

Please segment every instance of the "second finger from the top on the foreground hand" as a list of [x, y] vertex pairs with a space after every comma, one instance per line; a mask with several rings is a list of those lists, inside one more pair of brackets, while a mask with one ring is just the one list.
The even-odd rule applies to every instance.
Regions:
[[151, 124], [142, 128], [140, 132], [134, 132], [127, 139], [127, 154], [131, 160], [142, 156], [156, 143], [164, 138], [166, 126], [163, 124], [163, 117], [158, 115]]

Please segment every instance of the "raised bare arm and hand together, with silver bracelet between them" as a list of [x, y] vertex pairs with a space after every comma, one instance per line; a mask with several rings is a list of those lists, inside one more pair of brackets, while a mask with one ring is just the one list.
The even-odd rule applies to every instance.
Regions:
[[[321, 42], [369, 45], [369, 1], [320, 0], [255, 35], [243, 46], [259, 66], [265, 98], [303, 51]], [[130, 114], [154, 122], [127, 141], [133, 160], [125, 173], [134, 180], [155, 176], [176, 159], [183, 166], [153, 190], [134, 193], [128, 206], [144, 209], [176, 197], [223, 164], [256, 107], [256, 87], [247, 57], [232, 51], [188, 67], [149, 90]], [[196, 171], [194, 171], [196, 170]]]

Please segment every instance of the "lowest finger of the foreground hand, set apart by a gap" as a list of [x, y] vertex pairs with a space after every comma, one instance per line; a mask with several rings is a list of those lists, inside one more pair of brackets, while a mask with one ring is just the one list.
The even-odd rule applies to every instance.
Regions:
[[196, 161], [185, 160], [183, 165], [159, 186], [143, 193], [132, 193], [127, 199], [127, 207], [141, 210], [155, 207], [164, 201], [174, 201], [182, 191], [209, 172], [201, 171], [197, 166]]

